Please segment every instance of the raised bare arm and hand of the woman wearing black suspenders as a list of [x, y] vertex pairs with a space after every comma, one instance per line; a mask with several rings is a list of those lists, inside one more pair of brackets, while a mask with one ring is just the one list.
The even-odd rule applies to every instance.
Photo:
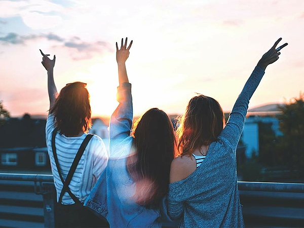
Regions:
[[[40, 49], [39, 49], [40, 50]], [[40, 53], [42, 54], [42, 65], [48, 71], [48, 92], [50, 98], [50, 109], [53, 107], [56, 97], [57, 97], [57, 88], [54, 82], [54, 66], [56, 61], [56, 56], [51, 60], [48, 56], [49, 54], [45, 55], [41, 50]]]

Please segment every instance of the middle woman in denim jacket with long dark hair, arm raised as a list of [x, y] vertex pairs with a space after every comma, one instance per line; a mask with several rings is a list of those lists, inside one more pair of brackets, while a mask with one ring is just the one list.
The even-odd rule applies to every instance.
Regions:
[[[131, 45], [132, 41], [127, 47], [127, 38], [120, 49], [116, 43], [119, 105], [110, 119], [110, 157], [106, 175], [99, 178], [85, 205], [105, 216], [111, 227], [161, 227], [176, 140], [170, 118], [158, 108], [146, 111], [132, 129], [125, 64]], [[105, 186], [106, 197], [101, 194]]]

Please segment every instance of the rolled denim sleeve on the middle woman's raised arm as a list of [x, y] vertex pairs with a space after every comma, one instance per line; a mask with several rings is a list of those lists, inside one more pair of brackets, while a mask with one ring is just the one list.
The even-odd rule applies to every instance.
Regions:
[[[133, 124], [131, 84], [123, 83], [117, 88], [119, 105], [112, 113], [109, 125], [110, 148], [130, 136]], [[115, 150], [110, 151], [110, 156]]]

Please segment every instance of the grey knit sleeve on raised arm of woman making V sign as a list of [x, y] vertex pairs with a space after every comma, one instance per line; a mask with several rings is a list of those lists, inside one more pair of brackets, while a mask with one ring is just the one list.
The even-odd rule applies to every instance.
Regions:
[[238, 145], [246, 120], [249, 100], [263, 75], [264, 70], [256, 66], [240, 93], [225, 128], [220, 133], [220, 137], [226, 138], [233, 148]]

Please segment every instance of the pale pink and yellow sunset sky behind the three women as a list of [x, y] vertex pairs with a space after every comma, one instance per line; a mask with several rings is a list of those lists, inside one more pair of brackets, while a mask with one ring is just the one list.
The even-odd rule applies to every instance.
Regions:
[[115, 42], [133, 40], [127, 71], [134, 114], [182, 113], [195, 93], [231, 110], [263, 53], [282, 37], [250, 106], [304, 91], [304, 1], [2, 1], [0, 100], [11, 116], [47, 113], [47, 72], [39, 49], [56, 54], [58, 91], [88, 84], [93, 116], [111, 115], [118, 86]]

